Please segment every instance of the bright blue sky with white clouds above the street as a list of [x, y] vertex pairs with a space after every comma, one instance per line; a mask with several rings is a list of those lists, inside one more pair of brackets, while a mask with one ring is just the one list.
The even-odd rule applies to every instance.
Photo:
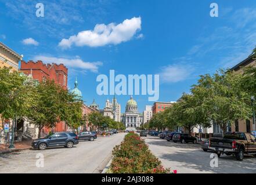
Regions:
[[[101, 108], [112, 97], [96, 94], [96, 77], [110, 69], [160, 74], [159, 101], [176, 101], [199, 75], [237, 64], [256, 45], [255, 0], [40, 2], [45, 17], [35, 16], [36, 1], [0, 0], [0, 41], [26, 61], [64, 62], [68, 86], [77, 76], [84, 101]], [[219, 17], [210, 17], [212, 2]], [[129, 95], [117, 99], [124, 112]], [[145, 95], [134, 99], [140, 112], [153, 105]]]

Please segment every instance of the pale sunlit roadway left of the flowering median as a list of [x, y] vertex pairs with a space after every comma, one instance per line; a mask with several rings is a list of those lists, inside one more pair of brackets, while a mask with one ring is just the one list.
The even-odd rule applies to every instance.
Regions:
[[[0, 173], [101, 173], [111, 158], [114, 146], [124, 133], [82, 141], [72, 149], [23, 150], [0, 155]], [[44, 167], [37, 167], [37, 155], [44, 156]], [[42, 158], [41, 158], [42, 159]]]

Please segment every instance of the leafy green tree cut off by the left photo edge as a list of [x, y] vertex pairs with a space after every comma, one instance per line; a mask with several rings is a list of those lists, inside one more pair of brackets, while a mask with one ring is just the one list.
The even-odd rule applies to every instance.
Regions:
[[30, 114], [38, 98], [34, 83], [20, 72], [0, 68], [0, 114], [3, 119], [16, 120]]

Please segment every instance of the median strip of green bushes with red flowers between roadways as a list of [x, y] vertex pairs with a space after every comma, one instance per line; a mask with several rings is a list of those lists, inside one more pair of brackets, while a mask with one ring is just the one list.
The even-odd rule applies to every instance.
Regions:
[[155, 157], [139, 135], [129, 133], [113, 149], [109, 173], [170, 173]]

